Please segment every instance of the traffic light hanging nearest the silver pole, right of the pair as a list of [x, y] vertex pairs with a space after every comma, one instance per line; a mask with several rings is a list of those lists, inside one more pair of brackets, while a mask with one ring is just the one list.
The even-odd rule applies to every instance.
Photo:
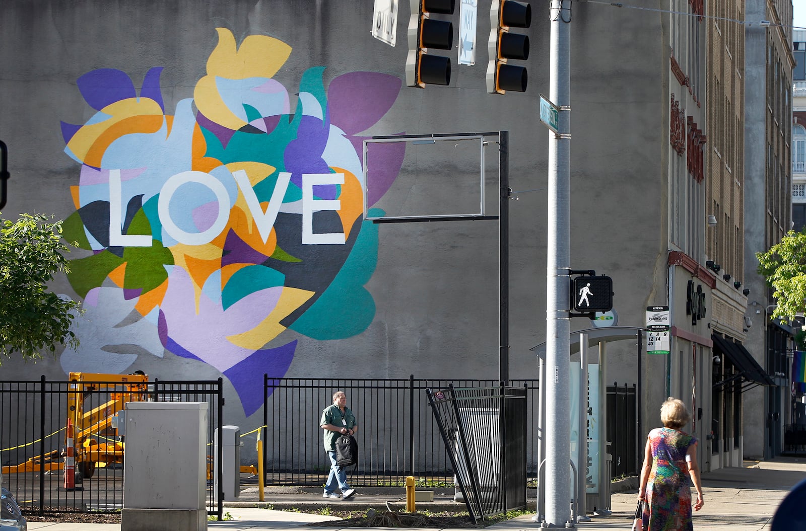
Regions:
[[530, 27], [532, 7], [528, 2], [492, 0], [490, 6], [490, 39], [487, 43], [487, 92], [507, 90], [526, 92], [526, 68], [509, 64], [510, 59], [529, 59], [529, 36], [510, 33], [510, 27]]

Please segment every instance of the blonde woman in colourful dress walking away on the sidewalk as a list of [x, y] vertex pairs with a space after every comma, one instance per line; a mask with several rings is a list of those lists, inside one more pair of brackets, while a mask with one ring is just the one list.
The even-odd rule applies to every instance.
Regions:
[[681, 431], [690, 418], [683, 400], [670, 396], [660, 409], [663, 428], [653, 429], [646, 438], [638, 489], [638, 500], [645, 500], [644, 531], [692, 531], [692, 491], [688, 478], [697, 492], [694, 510], [699, 511], [704, 505], [697, 440]]

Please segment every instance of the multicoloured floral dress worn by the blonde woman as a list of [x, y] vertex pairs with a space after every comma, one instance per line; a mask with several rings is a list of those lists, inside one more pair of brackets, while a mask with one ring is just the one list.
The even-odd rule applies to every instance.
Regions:
[[692, 492], [686, 450], [696, 438], [671, 428], [655, 428], [647, 437], [652, 471], [646, 484], [645, 531], [692, 531]]

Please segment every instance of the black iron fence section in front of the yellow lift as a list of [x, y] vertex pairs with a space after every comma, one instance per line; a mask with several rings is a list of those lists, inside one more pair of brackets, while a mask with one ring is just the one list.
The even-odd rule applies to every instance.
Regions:
[[[49, 381], [45, 376], [0, 381], [3, 484], [23, 512], [117, 512], [123, 508], [123, 441], [118, 435], [123, 417], [117, 413], [126, 402], [142, 400], [209, 404], [207, 468], [212, 474], [214, 433], [222, 425], [221, 379], [144, 383], [121, 375], [114, 381]], [[64, 473], [69, 431], [75, 446], [72, 481]], [[214, 496], [212, 479], [207, 482], [208, 511], [220, 519], [222, 496]]]

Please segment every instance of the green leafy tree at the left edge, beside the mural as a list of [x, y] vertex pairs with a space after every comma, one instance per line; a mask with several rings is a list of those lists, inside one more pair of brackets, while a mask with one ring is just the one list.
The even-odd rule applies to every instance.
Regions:
[[81, 303], [48, 290], [56, 272], [69, 272], [61, 223], [42, 214], [0, 218], [0, 363], [15, 352], [36, 359], [57, 344], [78, 346], [70, 323]]

